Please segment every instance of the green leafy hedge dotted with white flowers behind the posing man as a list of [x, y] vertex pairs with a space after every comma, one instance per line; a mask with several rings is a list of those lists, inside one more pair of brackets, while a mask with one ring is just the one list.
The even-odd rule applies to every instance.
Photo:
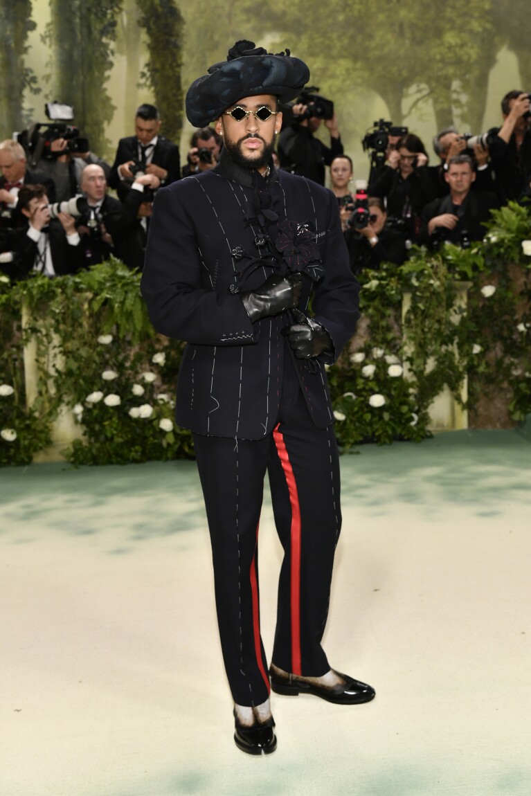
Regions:
[[[467, 406], [506, 396], [510, 417], [531, 412], [531, 212], [511, 203], [493, 213], [481, 244], [422, 249], [402, 267], [361, 278], [362, 326], [328, 372], [342, 450], [357, 443], [419, 442], [444, 385]], [[456, 302], [467, 283], [467, 303]], [[402, 318], [404, 295], [410, 306]], [[30, 318], [22, 326], [22, 307]], [[174, 386], [182, 343], [155, 334], [139, 274], [114, 260], [79, 275], [0, 276], [0, 465], [32, 461], [50, 444], [61, 405], [82, 436], [64, 451], [74, 464], [190, 458], [175, 426]], [[26, 406], [23, 347], [37, 345], [37, 397]], [[50, 350], [54, 356], [49, 357]], [[51, 361], [50, 361], [51, 359]]]

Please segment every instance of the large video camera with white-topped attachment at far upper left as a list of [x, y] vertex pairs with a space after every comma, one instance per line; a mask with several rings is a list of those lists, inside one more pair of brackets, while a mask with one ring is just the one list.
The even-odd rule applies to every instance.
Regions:
[[[88, 139], [80, 137], [77, 127], [67, 124], [74, 118], [72, 105], [65, 105], [57, 100], [47, 102], [45, 103], [45, 113], [52, 120], [50, 123], [37, 122], [29, 130], [24, 130], [17, 135], [18, 143], [28, 154], [29, 165], [32, 168], [37, 166], [41, 158], [53, 160], [62, 154], [88, 152], [90, 149]], [[65, 139], [68, 144], [64, 150], [54, 152], [52, 143], [57, 139]]]

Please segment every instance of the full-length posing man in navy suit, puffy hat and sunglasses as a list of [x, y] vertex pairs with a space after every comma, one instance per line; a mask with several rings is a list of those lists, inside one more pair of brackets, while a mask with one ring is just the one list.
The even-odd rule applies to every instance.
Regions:
[[[325, 365], [359, 313], [334, 195], [272, 162], [278, 101], [308, 79], [289, 51], [239, 41], [192, 84], [188, 119], [215, 121], [224, 148], [213, 170], [158, 191], [142, 279], [155, 328], [187, 342], [176, 416], [194, 435], [234, 739], [253, 755], [276, 747], [271, 688], [339, 704], [374, 696], [321, 646], [341, 526]], [[257, 560], [266, 472], [284, 548], [269, 671]]]

